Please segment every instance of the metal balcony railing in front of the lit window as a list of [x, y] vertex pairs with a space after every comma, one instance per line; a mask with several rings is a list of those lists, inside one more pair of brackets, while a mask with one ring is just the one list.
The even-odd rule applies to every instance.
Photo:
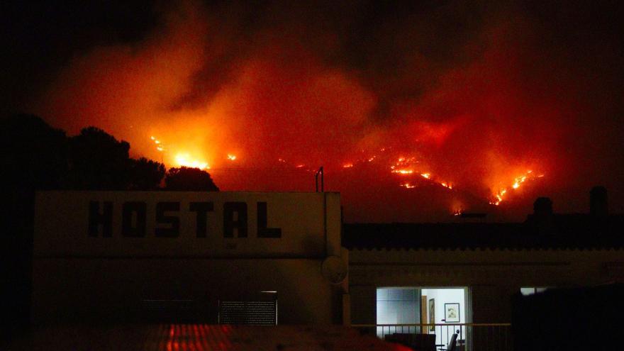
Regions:
[[435, 334], [435, 345], [446, 348], [457, 331], [456, 351], [512, 351], [510, 323], [352, 324], [362, 333], [385, 339], [392, 334]]

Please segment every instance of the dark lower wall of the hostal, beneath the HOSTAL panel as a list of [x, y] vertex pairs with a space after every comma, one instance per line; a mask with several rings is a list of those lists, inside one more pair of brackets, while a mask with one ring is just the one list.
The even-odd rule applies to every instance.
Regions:
[[142, 300], [194, 301], [194, 320], [216, 323], [219, 300], [254, 300], [277, 291], [278, 323], [336, 323], [341, 291], [321, 260], [38, 259], [33, 318], [140, 320]]

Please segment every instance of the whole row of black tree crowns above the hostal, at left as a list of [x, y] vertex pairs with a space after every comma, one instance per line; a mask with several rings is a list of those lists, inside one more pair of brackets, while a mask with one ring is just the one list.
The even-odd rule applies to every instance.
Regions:
[[171, 168], [145, 157], [130, 158], [130, 144], [96, 127], [67, 137], [38, 116], [0, 120], [1, 186], [5, 189], [218, 191], [201, 169]]

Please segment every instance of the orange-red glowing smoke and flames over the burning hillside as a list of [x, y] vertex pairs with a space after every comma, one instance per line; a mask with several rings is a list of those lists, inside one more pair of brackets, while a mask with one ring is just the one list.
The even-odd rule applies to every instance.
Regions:
[[[557, 71], [558, 59], [537, 50], [523, 16], [483, 23], [449, 48], [462, 60], [446, 65], [420, 48], [401, 51], [398, 71], [335, 60], [330, 50], [341, 52], [340, 36], [313, 27], [321, 41], [311, 42], [309, 23], [242, 33], [231, 18], [193, 2], [165, 18], [140, 43], [77, 55], [35, 112], [69, 134], [103, 128], [128, 140], [134, 156], [168, 167], [209, 168], [223, 190], [279, 190], [283, 178], [253, 186], [249, 179], [257, 169], [306, 178], [323, 166], [325, 189], [342, 191], [345, 201], [355, 201], [347, 193], [357, 190], [342, 179], [364, 177], [362, 184], [387, 180], [408, 194], [428, 184], [445, 194], [467, 191], [504, 208], [532, 202], [530, 189], [561, 184], [578, 158], [565, 152], [578, 135], [566, 121], [578, 114], [574, 79], [583, 77]], [[420, 32], [401, 23], [389, 41], [408, 45]], [[381, 56], [360, 56], [367, 55]], [[228, 167], [250, 175], [233, 177], [222, 171]], [[447, 201], [447, 213], [460, 202]]]

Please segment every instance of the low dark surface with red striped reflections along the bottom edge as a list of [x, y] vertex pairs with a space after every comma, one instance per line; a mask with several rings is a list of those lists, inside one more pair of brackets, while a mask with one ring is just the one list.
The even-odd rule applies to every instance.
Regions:
[[[0, 343], [0, 347], [3, 346]], [[7, 351], [409, 351], [407, 347], [325, 326], [203, 324], [53, 327], [4, 345]]]

